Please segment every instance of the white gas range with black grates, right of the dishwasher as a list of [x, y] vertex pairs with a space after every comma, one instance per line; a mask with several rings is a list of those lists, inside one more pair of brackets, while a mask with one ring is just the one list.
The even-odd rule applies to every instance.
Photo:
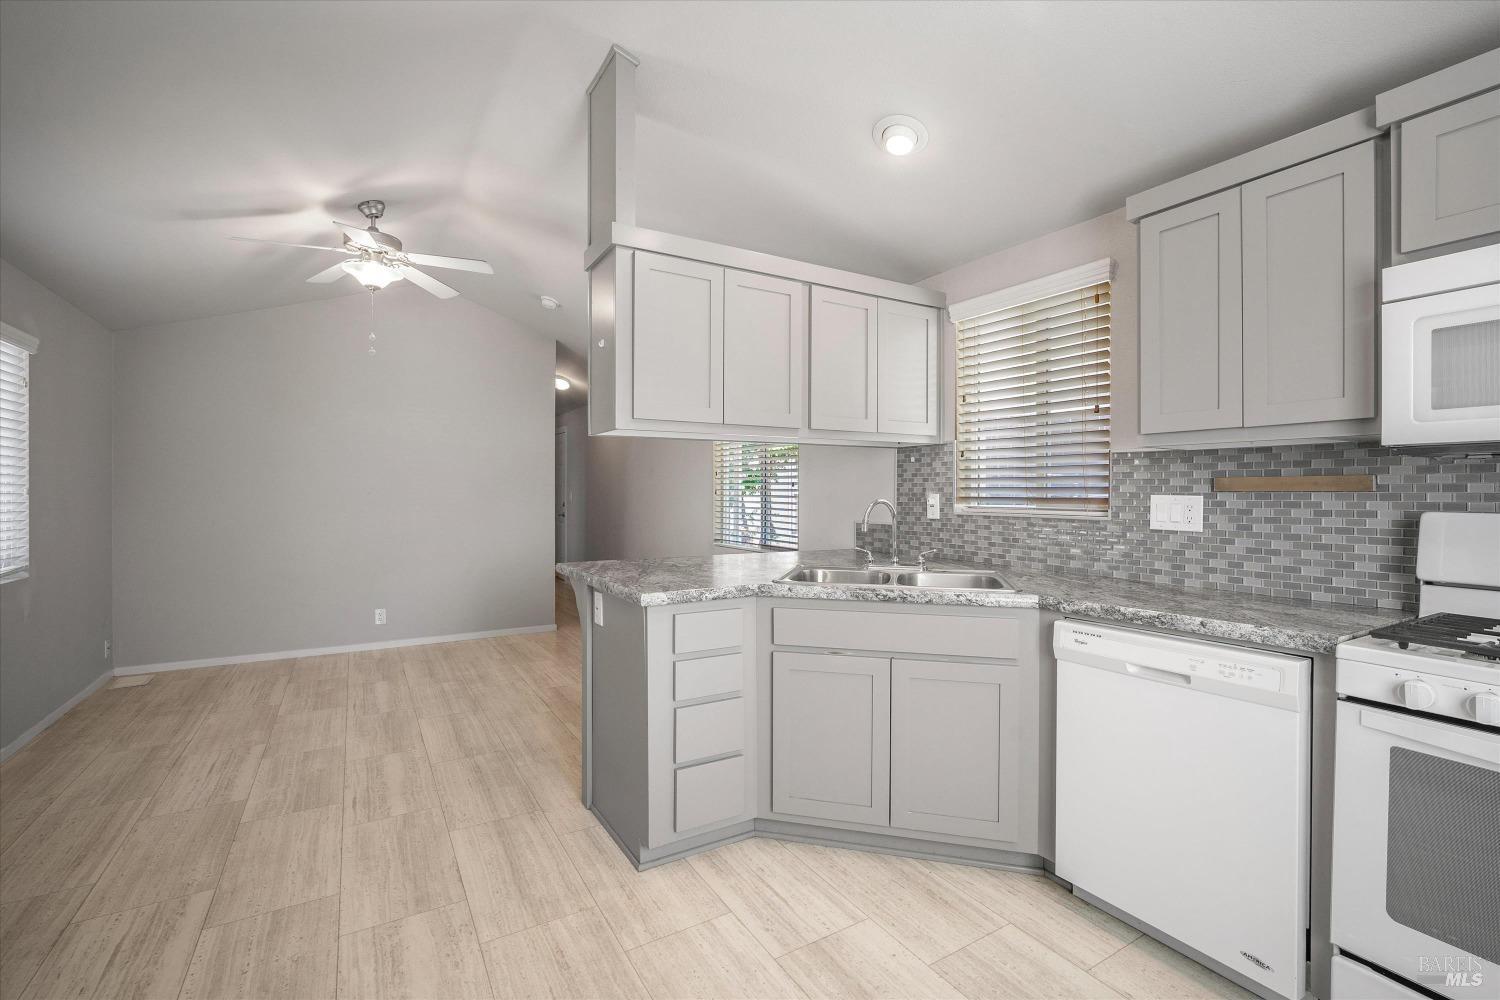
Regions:
[[1500, 997], [1500, 514], [1418, 546], [1422, 616], [1338, 646], [1332, 1000]]

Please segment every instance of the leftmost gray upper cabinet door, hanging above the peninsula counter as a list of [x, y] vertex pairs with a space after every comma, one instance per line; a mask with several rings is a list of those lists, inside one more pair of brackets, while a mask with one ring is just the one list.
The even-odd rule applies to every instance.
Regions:
[[636, 250], [636, 420], [724, 423], [724, 268]]

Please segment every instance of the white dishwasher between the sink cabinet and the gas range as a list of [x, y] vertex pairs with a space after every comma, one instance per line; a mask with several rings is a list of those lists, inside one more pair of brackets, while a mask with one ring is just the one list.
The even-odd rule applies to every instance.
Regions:
[[1053, 651], [1058, 874], [1299, 1000], [1310, 660], [1074, 621]]

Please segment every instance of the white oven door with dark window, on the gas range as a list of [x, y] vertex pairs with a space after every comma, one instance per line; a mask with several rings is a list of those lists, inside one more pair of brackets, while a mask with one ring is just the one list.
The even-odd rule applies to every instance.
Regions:
[[1500, 732], [1338, 703], [1332, 937], [1444, 996], [1500, 990]]

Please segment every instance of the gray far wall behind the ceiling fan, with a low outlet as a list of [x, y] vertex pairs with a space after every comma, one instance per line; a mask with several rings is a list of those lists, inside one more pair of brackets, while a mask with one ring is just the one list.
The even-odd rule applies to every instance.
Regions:
[[118, 666], [552, 622], [554, 342], [376, 307], [374, 357], [364, 294], [117, 336]]

